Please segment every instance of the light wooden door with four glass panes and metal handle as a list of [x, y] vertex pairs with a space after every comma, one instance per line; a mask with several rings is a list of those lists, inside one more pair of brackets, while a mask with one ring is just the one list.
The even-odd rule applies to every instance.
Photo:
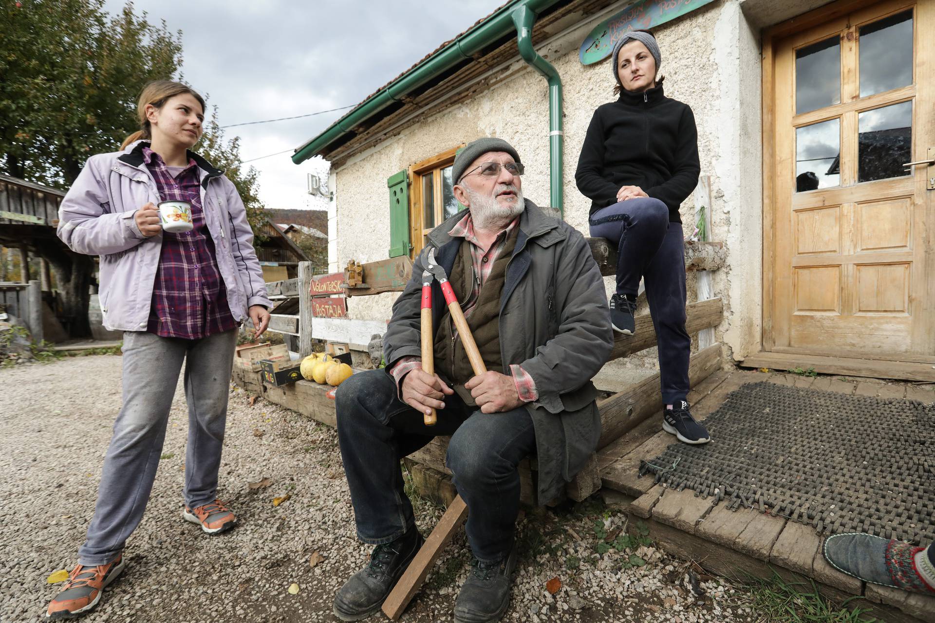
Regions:
[[770, 350], [935, 361], [935, 166], [904, 166], [935, 157], [933, 14], [885, 2], [774, 44]]

